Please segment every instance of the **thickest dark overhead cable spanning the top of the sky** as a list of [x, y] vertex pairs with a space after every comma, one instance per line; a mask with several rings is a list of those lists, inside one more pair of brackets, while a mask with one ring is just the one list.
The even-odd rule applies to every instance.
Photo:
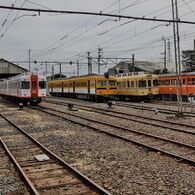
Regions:
[[20, 7], [10, 7], [10, 6], [0, 6], [0, 9], [12, 9], [12, 10], [20, 10], [20, 11], [30, 11], [30, 12], [38, 12], [42, 13], [61, 13], [61, 14], [79, 14], [79, 15], [95, 15], [95, 16], [108, 16], [114, 18], [125, 18], [125, 19], [135, 19], [135, 20], [146, 20], [146, 21], [155, 21], [155, 22], [170, 22], [170, 23], [183, 23], [183, 24], [195, 24], [192, 21], [184, 21], [184, 20], [166, 20], [160, 18], [147, 18], [143, 17], [135, 17], [135, 16], [126, 16], [126, 15], [116, 15], [116, 14], [106, 14], [101, 11], [98, 12], [81, 12], [81, 11], [63, 11], [63, 10], [45, 10], [45, 9], [32, 9], [32, 8], [20, 8]]

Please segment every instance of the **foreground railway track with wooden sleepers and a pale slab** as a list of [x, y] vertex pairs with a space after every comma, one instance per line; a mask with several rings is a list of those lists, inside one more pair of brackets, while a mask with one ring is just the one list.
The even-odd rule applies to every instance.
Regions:
[[1, 127], [0, 142], [31, 194], [110, 194], [3, 114], [0, 116], [9, 129], [5, 133]]

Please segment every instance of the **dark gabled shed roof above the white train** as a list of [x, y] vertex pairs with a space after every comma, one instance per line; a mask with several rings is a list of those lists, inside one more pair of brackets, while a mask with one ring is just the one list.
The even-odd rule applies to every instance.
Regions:
[[27, 72], [28, 70], [9, 62], [3, 58], [0, 59], [0, 79], [16, 76]]

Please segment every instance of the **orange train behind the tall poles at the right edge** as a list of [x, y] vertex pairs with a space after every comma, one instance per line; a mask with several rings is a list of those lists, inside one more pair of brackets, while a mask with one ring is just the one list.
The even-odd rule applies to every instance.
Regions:
[[[182, 100], [188, 101], [195, 96], [195, 72], [181, 74]], [[177, 79], [175, 74], [159, 75], [159, 97], [177, 99]]]

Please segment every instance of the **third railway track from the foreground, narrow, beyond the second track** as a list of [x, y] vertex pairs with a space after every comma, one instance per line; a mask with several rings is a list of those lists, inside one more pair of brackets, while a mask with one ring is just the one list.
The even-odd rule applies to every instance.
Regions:
[[[47, 101], [47, 102], [57, 104], [57, 105], [68, 105], [69, 104], [69, 103], [64, 103], [64, 102], [59, 102], [59, 101]], [[118, 111], [110, 110], [110, 109], [109, 110], [102, 109], [102, 108], [97, 108], [97, 107], [93, 107], [93, 106], [74, 104], [74, 107], [78, 108], [78, 109], [86, 110], [86, 111], [93, 111], [96, 113], [115, 117], [117, 119], [124, 119], [124, 120], [133, 121], [133, 122], [139, 122], [139, 123], [143, 123], [146, 125], [151, 125], [151, 126], [155, 126], [155, 127], [163, 127], [163, 128], [170, 129], [170, 130], [195, 135], [195, 131], [194, 131], [195, 125], [178, 123], [178, 122], [157, 119], [157, 118], [150, 118], [150, 117], [129, 114], [129, 113], [124, 114], [123, 112], [118, 112]], [[188, 130], [186, 130], [186, 128], [188, 128]], [[191, 129], [191, 130], [189, 130], [189, 129]]]

